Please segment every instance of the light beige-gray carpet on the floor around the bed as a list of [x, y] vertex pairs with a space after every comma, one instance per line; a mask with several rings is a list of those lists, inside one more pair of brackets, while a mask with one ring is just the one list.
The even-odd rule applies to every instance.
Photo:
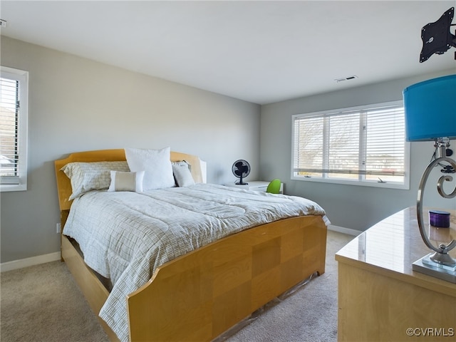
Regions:
[[[328, 231], [326, 272], [225, 339], [337, 341], [337, 263], [352, 236]], [[66, 264], [53, 261], [0, 274], [2, 342], [107, 342]]]

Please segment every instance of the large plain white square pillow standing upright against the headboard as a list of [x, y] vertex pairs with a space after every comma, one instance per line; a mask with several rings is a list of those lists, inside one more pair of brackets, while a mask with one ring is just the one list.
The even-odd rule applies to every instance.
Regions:
[[125, 157], [130, 171], [144, 171], [144, 179], [142, 180], [144, 191], [175, 186], [170, 153], [170, 147], [161, 150], [125, 148]]

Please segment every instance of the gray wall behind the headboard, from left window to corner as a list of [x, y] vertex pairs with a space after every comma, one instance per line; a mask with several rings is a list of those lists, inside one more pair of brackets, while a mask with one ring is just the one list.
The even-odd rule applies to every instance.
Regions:
[[199, 155], [207, 181], [259, 176], [260, 106], [1, 37], [1, 65], [29, 72], [28, 190], [2, 192], [1, 262], [58, 252], [53, 160], [70, 152], [161, 148]]

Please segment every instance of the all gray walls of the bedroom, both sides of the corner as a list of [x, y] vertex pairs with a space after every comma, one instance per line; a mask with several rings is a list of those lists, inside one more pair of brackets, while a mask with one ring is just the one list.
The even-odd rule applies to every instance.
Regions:
[[[400, 100], [403, 88], [410, 84], [455, 73], [451, 70], [260, 108], [4, 36], [1, 65], [29, 72], [28, 190], [0, 194], [2, 263], [58, 252], [53, 160], [82, 150], [170, 145], [172, 150], [207, 161], [208, 182], [219, 184], [234, 180], [234, 160], [247, 159], [252, 165], [248, 180], [279, 177], [287, 194], [314, 199], [333, 224], [365, 230], [415, 205], [419, 179], [434, 150], [432, 143], [411, 144], [410, 190], [291, 181], [291, 115]], [[456, 151], [456, 141], [452, 147]], [[427, 189], [435, 187], [432, 180], [430, 184]], [[456, 201], [441, 200], [435, 190], [427, 198], [432, 200], [425, 204], [456, 209]]]

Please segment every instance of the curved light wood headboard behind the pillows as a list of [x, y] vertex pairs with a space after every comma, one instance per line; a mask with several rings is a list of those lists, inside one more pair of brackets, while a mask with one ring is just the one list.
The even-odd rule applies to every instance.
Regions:
[[[61, 211], [70, 209], [71, 202], [73, 202], [68, 201], [72, 189], [70, 179], [66, 177], [63, 171], [61, 171], [63, 166], [68, 164], [68, 162], [110, 162], [120, 160], [126, 160], [125, 150], [123, 149], [75, 152], [68, 155], [65, 159], [56, 160], [54, 165], [56, 168], [58, 204], [60, 205]], [[187, 161], [190, 165], [192, 165], [192, 176], [195, 182], [200, 183], [203, 181], [201, 161], [196, 155], [171, 152], [170, 160], [172, 162], [178, 162], [181, 160]]]

